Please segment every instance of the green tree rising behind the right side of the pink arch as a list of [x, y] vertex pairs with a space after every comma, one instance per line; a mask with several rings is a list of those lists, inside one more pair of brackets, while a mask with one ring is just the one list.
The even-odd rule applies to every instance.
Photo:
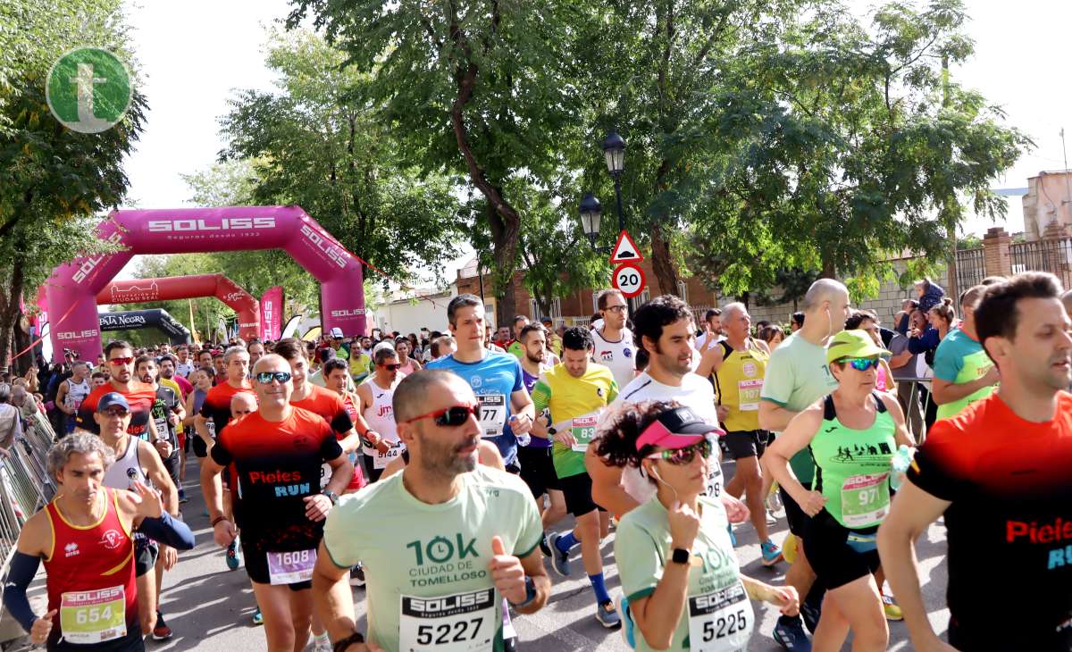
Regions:
[[442, 273], [463, 233], [453, 181], [403, 161], [396, 130], [362, 99], [370, 75], [345, 59], [311, 31], [271, 32], [279, 92], [245, 90], [230, 102], [222, 160], [252, 159], [254, 203], [300, 205], [388, 275]]

